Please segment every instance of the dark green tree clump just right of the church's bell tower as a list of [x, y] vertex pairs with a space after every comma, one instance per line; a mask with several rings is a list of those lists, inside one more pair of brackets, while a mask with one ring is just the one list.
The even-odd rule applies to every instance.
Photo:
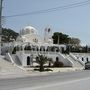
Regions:
[[79, 38], [69, 37], [69, 35], [60, 32], [55, 32], [52, 38], [54, 44], [71, 44], [77, 46], [80, 45]]

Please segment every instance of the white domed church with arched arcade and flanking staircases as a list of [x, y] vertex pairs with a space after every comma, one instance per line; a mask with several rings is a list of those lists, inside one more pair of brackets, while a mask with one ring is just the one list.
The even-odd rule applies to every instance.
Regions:
[[[79, 62], [73, 54], [67, 56], [62, 54], [62, 49], [66, 50], [66, 46], [53, 44], [52, 35], [50, 27], [46, 27], [43, 35], [40, 36], [36, 28], [26, 26], [20, 30], [16, 41], [10, 44], [6, 58], [22, 67], [30, 67], [36, 65], [36, 56], [42, 54], [51, 58], [53, 62], [58, 58], [65, 67], [82, 67], [83, 62]], [[14, 49], [16, 52], [12, 53]]]

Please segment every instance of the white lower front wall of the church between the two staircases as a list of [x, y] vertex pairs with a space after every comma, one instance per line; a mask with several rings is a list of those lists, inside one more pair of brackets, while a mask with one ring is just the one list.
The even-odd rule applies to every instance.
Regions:
[[[27, 66], [27, 57], [30, 56], [31, 59], [31, 66], [33, 65], [32, 60], [35, 59], [35, 57], [38, 55], [38, 53], [30, 53], [30, 52], [23, 52], [23, 51], [19, 51], [16, 53], [17, 56], [19, 57], [20, 61], [22, 62], [22, 66]], [[45, 54], [48, 58], [52, 58], [53, 61], [56, 61], [56, 57], [59, 58], [59, 61], [63, 62], [64, 66], [72, 66], [72, 63], [67, 60], [65, 57], [63, 57], [61, 54], [59, 53], [46, 53]], [[33, 59], [32, 59], [33, 58]]]

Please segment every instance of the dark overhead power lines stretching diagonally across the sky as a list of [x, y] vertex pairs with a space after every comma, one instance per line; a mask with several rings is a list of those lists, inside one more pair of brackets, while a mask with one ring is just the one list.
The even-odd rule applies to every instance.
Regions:
[[73, 3], [73, 4], [68, 4], [65, 6], [59, 6], [59, 7], [55, 7], [55, 8], [49, 8], [49, 9], [38, 10], [38, 11], [33, 11], [33, 12], [28, 12], [28, 13], [16, 14], [16, 15], [9, 15], [9, 16], [5, 16], [5, 17], [10, 18], [10, 17], [18, 17], [18, 16], [36, 15], [36, 14], [41, 14], [41, 13], [49, 13], [49, 12], [54, 12], [54, 11], [58, 11], [58, 10], [80, 7], [80, 6], [84, 6], [87, 4], [90, 4], [90, 0], [83, 1], [83, 2], [77, 2], [77, 3]]

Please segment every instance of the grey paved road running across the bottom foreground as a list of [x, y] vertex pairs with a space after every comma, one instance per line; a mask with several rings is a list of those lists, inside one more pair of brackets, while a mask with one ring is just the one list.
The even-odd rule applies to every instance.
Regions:
[[90, 71], [0, 79], [0, 90], [90, 90]]

